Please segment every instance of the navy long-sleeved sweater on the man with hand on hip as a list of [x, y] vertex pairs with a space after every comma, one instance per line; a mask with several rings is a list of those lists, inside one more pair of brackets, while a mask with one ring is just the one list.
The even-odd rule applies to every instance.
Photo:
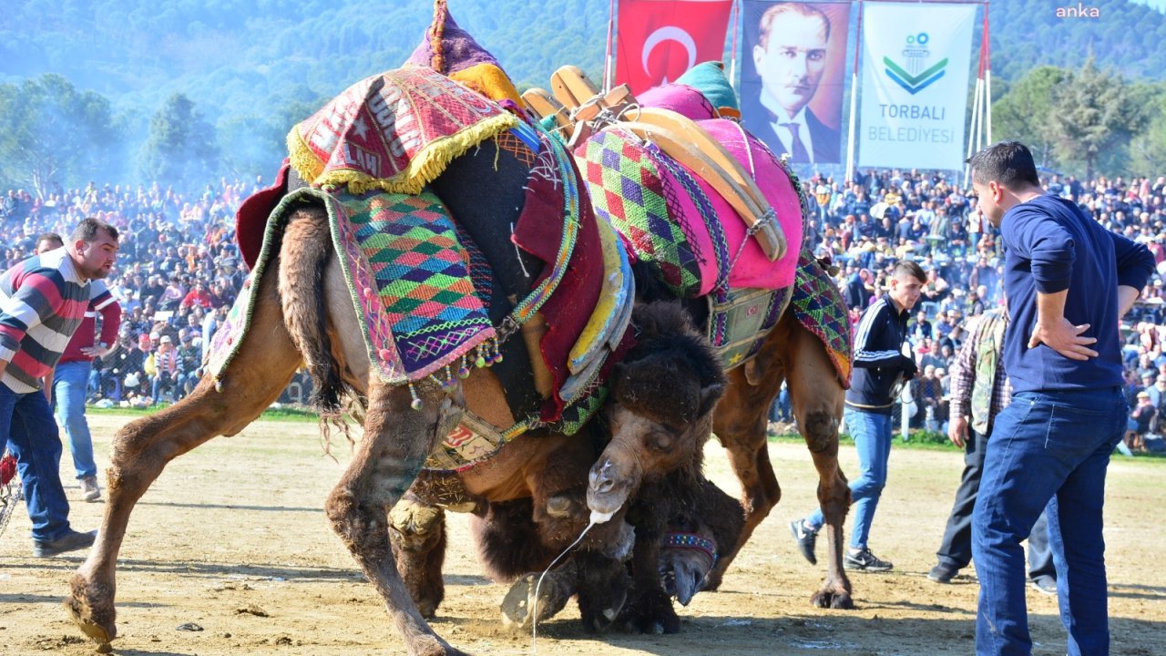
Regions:
[[[1012, 322], [1004, 368], [1012, 391], [1086, 390], [1123, 384], [1117, 286], [1140, 289], [1154, 270], [1144, 245], [1110, 232], [1075, 204], [1052, 195], [1010, 209], [1000, 224], [1006, 249], [1004, 291]], [[1065, 317], [1089, 323], [1097, 357], [1069, 360], [1052, 348], [1028, 348], [1037, 324], [1037, 293], [1068, 289]]]

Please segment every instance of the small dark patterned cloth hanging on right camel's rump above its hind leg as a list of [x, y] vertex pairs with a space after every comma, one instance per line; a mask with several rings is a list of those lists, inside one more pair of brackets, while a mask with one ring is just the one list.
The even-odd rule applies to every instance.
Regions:
[[850, 388], [850, 319], [847, 301], [837, 285], [814, 259], [801, 251], [798, 259], [798, 282], [789, 302], [798, 321], [822, 340], [842, 386]]

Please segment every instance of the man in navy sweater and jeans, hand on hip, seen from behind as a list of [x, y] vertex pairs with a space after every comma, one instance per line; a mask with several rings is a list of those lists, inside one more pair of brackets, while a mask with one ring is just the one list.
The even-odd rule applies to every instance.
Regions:
[[1118, 321], [1154, 259], [1046, 194], [1023, 144], [993, 144], [968, 161], [979, 208], [1006, 249], [1012, 317], [1003, 356], [1012, 405], [996, 418], [972, 512], [976, 654], [1032, 651], [1020, 542], [1047, 503], [1068, 654], [1105, 655], [1105, 468], [1128, 412]]

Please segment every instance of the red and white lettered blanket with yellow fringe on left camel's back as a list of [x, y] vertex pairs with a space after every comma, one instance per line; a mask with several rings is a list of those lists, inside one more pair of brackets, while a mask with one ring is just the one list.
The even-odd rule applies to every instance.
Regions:
[[288, 153], [314, 187], [417, 194], [450, 160], [518, 123], [433, 69], [407, 67], [361, 79], [293, 127]]

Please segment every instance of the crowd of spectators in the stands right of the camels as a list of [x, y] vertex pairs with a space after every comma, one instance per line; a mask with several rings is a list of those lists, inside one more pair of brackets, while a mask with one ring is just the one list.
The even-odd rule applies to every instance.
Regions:
[[[1082, 182], [1072, 175], [1047, 174], [1042, 183], [1049, 193], [1076, 202], [1107, 229], [1153, 252], [1158, 272], [1125, 317], [1122, 334], [1130, 407], [1137, 409], [1138, 393], [1144, 392], [1153, 397], [1157, 414], [1166, 416], [1166, 393], [1152, 390], [1160, 376], [1166, 391], [1166, 176]], [[955, 353], [970, 322], [1003, 302], [1004, 260], [997, 230], [979, 212], [975, 196], [942, 173], [859, 172], [849, 184], [814, 176], [803, 187], [816, 211], [807, 225], [807, 244], [837, 267], [837, 284], [854, 321], [885, 293], [898, 259], [912, 258], [927, 273], [923, 296], [908, 322], [921, 374], [904, 400], [913, 427], [942, 431]], [[778, 418], [787, 418], [787, 407], [778, 411]], [[1143, 410], [1139, 417], [1146, 413]]]

